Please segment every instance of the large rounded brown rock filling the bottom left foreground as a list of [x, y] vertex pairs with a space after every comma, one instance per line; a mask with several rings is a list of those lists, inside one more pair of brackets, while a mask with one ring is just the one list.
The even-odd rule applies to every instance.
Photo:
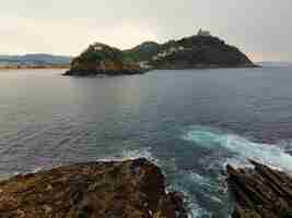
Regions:
[[178, 193], [165, 193], [145, 159], [61, 167], [0, 182], [1, 218], [185, 218]]

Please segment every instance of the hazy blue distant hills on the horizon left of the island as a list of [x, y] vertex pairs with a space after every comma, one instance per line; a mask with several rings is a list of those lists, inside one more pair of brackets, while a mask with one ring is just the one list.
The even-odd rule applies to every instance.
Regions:
[[1, 65], [69, 65], [71, 57], [32, 53], [24, 56], [0, 56]]

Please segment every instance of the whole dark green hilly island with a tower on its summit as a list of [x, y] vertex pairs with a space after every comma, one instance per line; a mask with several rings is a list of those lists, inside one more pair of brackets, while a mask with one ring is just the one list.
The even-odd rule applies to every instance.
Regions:
[[256, 68], [238, 48], [209, 32], [164, 44], [145, 41], [120, 50], [95, 43], [71, 62], [65, 75], [141, 74], [149, 70]]

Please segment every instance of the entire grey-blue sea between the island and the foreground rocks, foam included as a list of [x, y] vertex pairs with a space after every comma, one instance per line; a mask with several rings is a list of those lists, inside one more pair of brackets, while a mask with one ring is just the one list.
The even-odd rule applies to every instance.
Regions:
[[292, 68], [65, 77], [0, 71], [0, 178], [145, 157], [189, 216], [227, 218], [226, 164], [292, 171]]

